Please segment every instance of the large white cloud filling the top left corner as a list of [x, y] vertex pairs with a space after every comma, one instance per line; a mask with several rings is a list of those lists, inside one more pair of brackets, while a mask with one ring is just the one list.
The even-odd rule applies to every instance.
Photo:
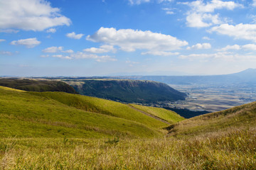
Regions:
[[0, 28], [41, 31], [54, 26], [70, 26], [70, 19], [46, 0], [0, 0]]

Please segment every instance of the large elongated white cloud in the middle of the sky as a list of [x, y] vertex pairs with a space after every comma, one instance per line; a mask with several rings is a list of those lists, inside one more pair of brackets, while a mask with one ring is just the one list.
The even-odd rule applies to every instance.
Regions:
[[121, 50], [133, 52], [135, 50], [147, 50], [148, 52], [169, 52], [178, 50], [188, 45], [185, 40], [178, 40], [171, 35], [152, 33], [149, 30], [132, 30], [115, 28], [100, 28], [93, 35], [88, 35], [87, 40], [103, 42], [107, 45], [116, 45]]

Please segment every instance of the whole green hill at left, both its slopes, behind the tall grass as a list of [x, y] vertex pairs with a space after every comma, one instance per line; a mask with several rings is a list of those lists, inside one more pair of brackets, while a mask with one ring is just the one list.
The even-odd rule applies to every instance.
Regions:
[[64, 92], [0, 86], [0, 106], [0, 137], [156, 137], [168, 126], [122, 103]]

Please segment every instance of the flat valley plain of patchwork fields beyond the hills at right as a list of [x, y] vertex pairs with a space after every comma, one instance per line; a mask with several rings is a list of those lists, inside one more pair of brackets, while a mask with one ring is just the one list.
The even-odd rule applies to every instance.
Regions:
[[215, 112], [256, 101], [256, 89], [252, 86], [227, 87], [198, 84], [195, 86], [171, 84], [170, 86], [189, 94], [186, 101], [169, 103], [170, 107]]

